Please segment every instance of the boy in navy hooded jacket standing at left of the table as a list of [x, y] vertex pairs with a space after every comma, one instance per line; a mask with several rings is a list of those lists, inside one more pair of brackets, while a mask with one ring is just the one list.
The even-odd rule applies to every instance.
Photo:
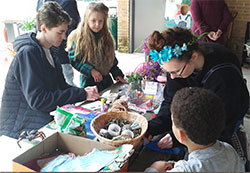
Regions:
[[96, 87], [68, 85], [59, 60], [51, 54], [66, 39], [71, 18], [56, 2], [45, 2], [36, 16], [37, 33], [14, 41], [16, 52], [8, 74], [0, 109], [0, 135], [18, 139], [23, 131], [38, 130], [53, 120], [57, 106], [96, 100]]

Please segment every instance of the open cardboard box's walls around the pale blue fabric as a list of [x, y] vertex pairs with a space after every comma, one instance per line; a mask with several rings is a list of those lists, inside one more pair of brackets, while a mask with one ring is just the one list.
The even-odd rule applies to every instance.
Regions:
[[13, 172], [35, 172], [23, 164], [33, 159], [39, 158], [46, 153], [53, 153], [56, 150], [65, 153], [71, 152], [82, 156], [92, 151], [93, 148], [98, 148], [100, 150], [115, 149], [115, 147], [110, 145], [105, 145], [87, 138], [56, 132], [36, 146], [30, 148], [13, 159]]

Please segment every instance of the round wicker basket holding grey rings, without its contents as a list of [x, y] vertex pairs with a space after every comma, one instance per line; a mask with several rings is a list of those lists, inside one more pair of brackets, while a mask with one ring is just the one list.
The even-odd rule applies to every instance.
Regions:
[[[139, 123], [140, 127], [142, 128], [141, 134], [135, 138], [129, 139], [129, 140], [111, 140], [104, 138], [100, 136], [98, 133], [100, 129], [102, 129], [105, 124], [107, 124], [108, 120], [121, 118], [125, 120], [129, 120], [131, 122], [137, 122]], [[99, 139], [101, 143], [108, 144], [114, 147], [118, 147], [122, 144], [132, 144], [134, 148], [141, 142], [142, 137], [147, 131], [148, 128], [148, 121], [147, 119], [139, 114], [131, 113], [131, 112], [107, 112], [104, 114], [101, 114], [97, 117], [95, 117], [91, 122], [91, 130], [94, 133], [94, 135]]]

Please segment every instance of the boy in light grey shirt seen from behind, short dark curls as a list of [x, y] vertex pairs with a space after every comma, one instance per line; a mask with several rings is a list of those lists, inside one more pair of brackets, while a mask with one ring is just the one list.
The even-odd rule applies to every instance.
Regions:
[[244, 172], [244, 163], [233, 147], [218, 141], [225, 124], [221, 99], [201, 88], [183, 88], [172, 104], [172, 129], [187, 146], [188, 160], [175, 164], [157, 161], [146, 172]]

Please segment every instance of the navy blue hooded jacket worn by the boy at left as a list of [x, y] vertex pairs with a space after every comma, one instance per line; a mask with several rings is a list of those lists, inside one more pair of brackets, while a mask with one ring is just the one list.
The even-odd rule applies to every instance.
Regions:
[[5, 81], [0, 114], [0, 135], [17, 138], [23, 130], [39, 129], [52, 120], [57, 106], [86, 99], [84, 89], [69, 86], [60, 62], [48, 62], [35, 33], [19, 36]]

